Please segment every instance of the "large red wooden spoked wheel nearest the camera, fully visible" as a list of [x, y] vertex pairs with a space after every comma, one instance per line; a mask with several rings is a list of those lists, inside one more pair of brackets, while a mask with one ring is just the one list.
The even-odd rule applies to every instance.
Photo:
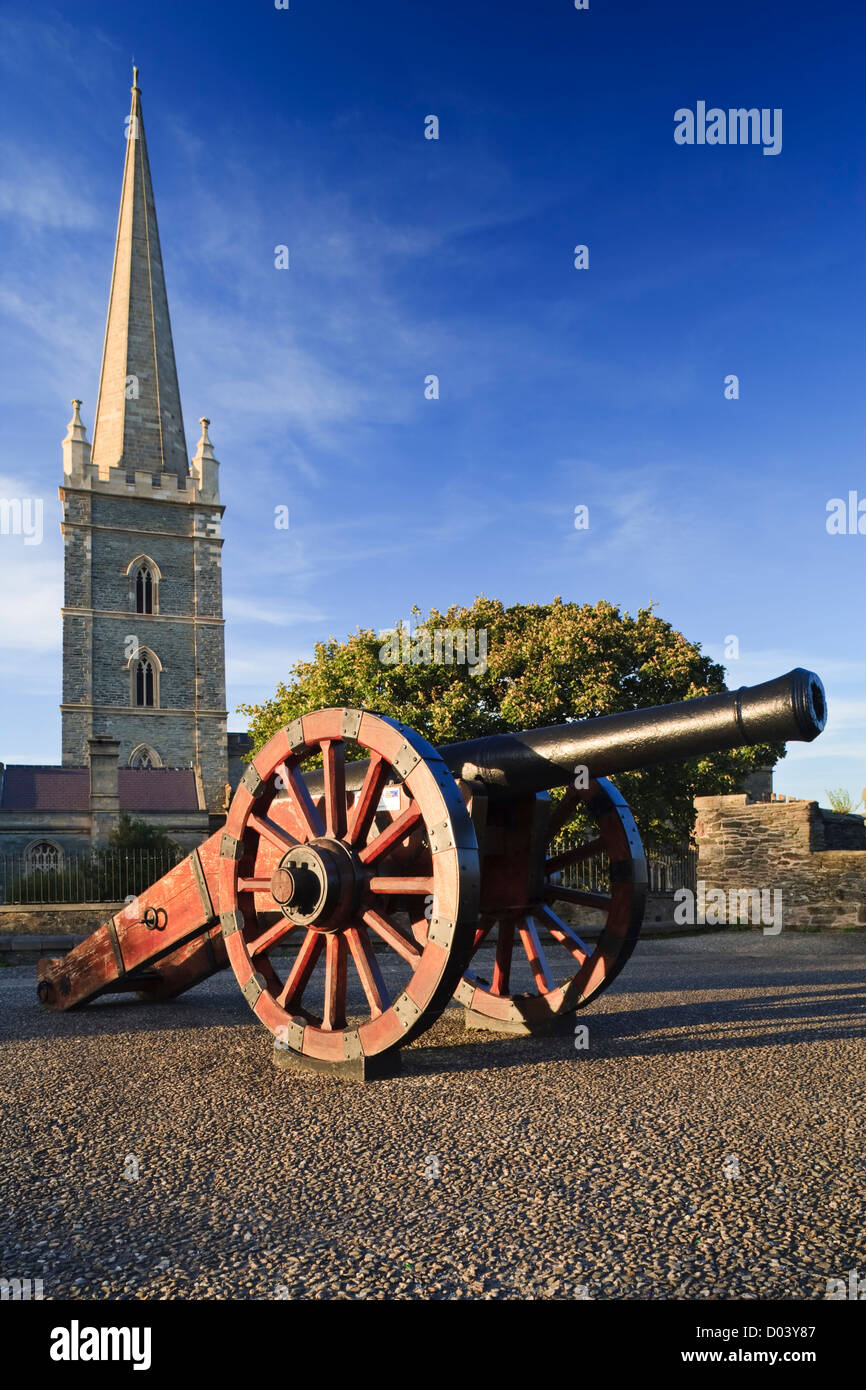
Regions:
[[[370, 762], [348, 795], [350, 744]], [[313, 799], [300, 769], [317, 753], [324, 794]], [[382, 817], [386, 787], [400, 809]], [[222, 834], [220, 920], [247, 1004], [299, 1058], [339, 1069], [427, 1029], [468, 962], [477, 915], [473, 823], [413, 730], [325, 709], [256, 755]], [[295, 942], [293, 956], [274, 955]]]

